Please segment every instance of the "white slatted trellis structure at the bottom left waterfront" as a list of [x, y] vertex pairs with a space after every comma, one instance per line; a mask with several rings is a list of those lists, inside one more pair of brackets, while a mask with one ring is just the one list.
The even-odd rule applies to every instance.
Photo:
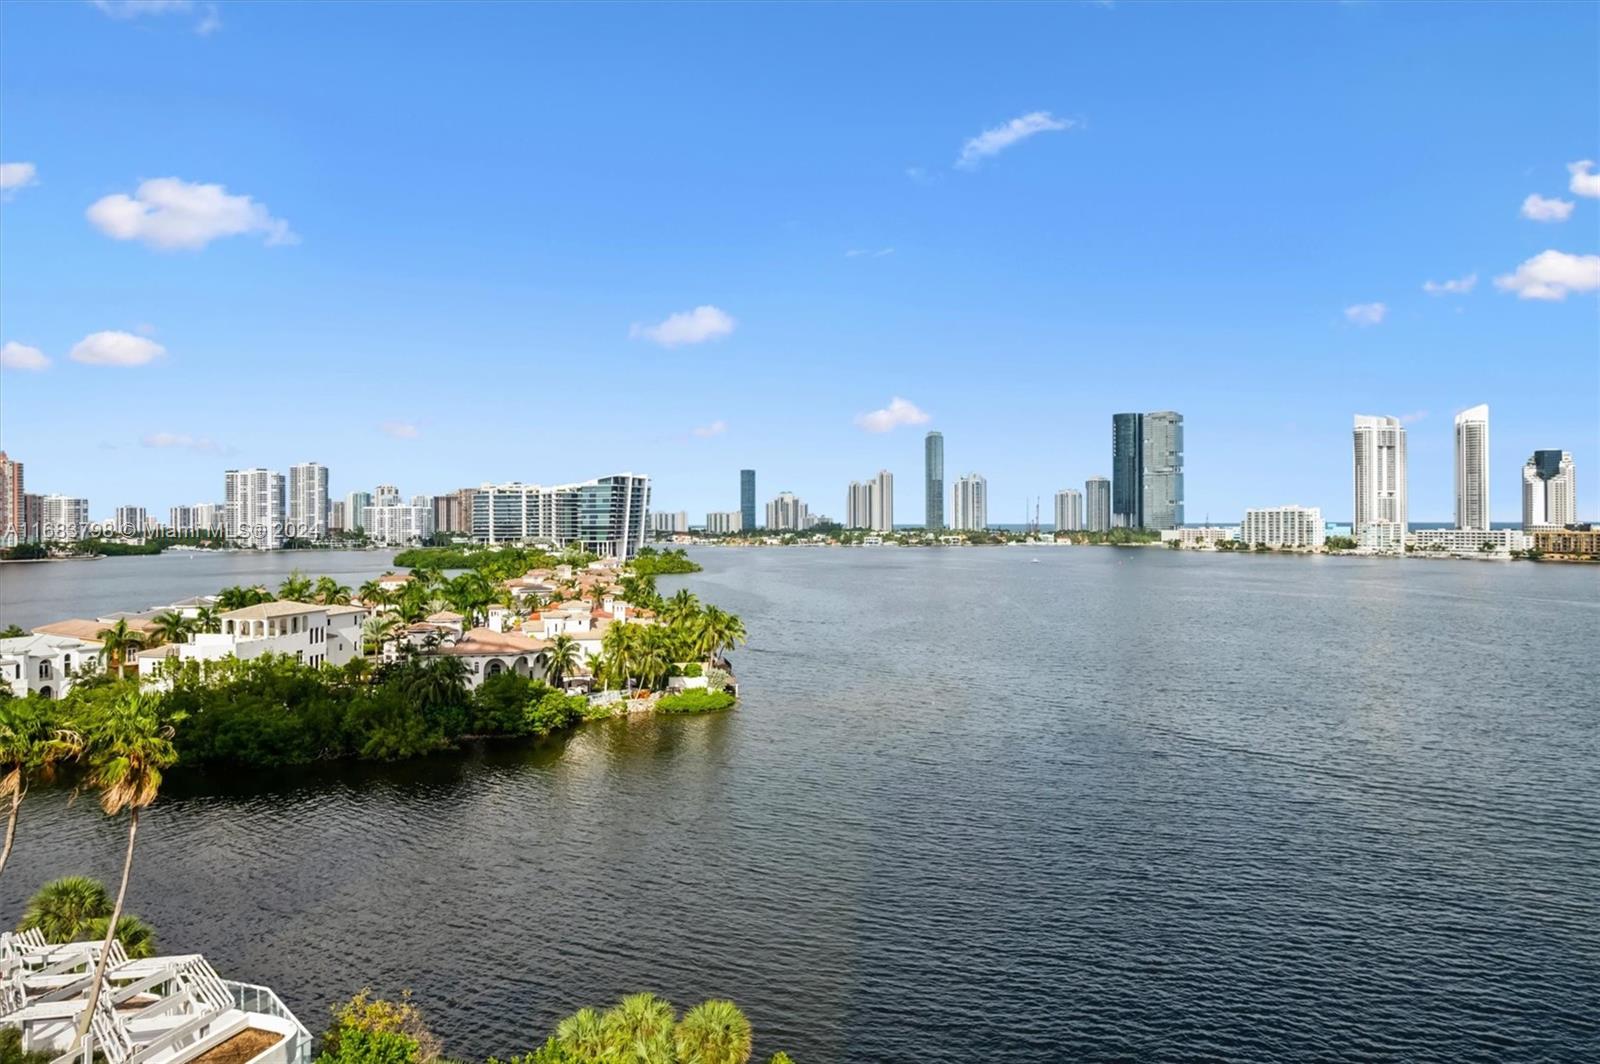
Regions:
[[[72, 1048], [88, 1008], [101, 942], [51, 946], [38, 931], [0, 933], [0, 1026], [53, 1064], [186, 1064], [245, 1032], [266, 1045], [250, 1064], [309, 1064], [310, 1034], [267, 987], [229, 982], [200, 954], [128, 960], [112, 941], [90, 1034]], [[264, 1038], [262, 1038], [264, 1035]]]

